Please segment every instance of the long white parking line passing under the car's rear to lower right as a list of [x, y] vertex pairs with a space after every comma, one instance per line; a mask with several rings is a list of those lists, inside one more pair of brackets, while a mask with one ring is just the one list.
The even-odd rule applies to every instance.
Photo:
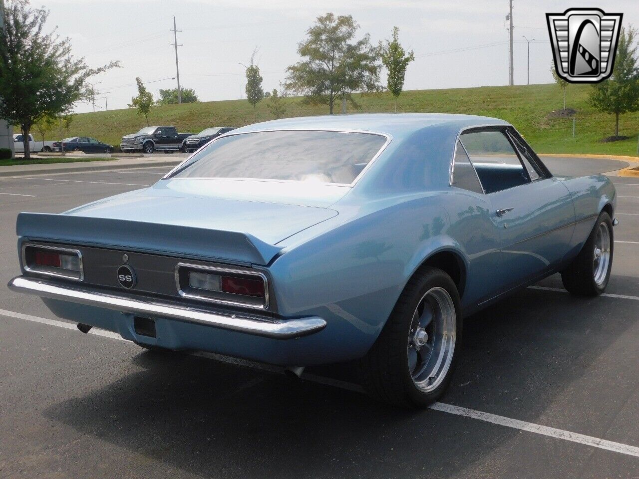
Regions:
[[[548, 288], [537, 287], [537, 289], [548, 289]], [[562, 291], [562, 290], [557, 290], [557, 291]], [[636, 298], [636, 299], [639, 300], [639, 298]], [[57, 321], [55, 319], [47, 319], [47, 318], [38, 317], [38, 316], [31, 316], [29, 314], [22, 314], [22, 313], [8, 311], [4, 309], [0, 309], [0, 315], [13, 317], [17, 319], [24, 319], [26, 321], [33, 321], [35, 323], [40, 323], [40, 324], [47, 324], [49, 326], [58, 326], [59, 328], [65, 328], [67, 330], [77, 329], [75, 324], [73, 323], [65, 323], [64, 321]], [[111, 339], [122, 340], [122, 341], [130, 343], [130, 341], [123, 339], [118, 334], [112, 333], [111, 331], [96, 330], [96, 328], [93, 328], [91, 331], [89, 331], [89, 334], [107, 337]], [[281, 372], [282, 370], [281, 368], [278, 368], [278, 367], [262, 365], [259, 363], [252, 363], [251, 361], [245, 361], [245, 360], [240, 360], [235, 358], [227, 358], [226, 356], [220, 356], [219, 354], [196, 353], [196, 356], [213, 357], [216, 360], [222, 360], [227, 363], [240, 365], [243, 367], [250, 367], [252, 369], [264, 370], [266, 372], [277, 373], [277, 372]], [[339, 379], [331, 379], [330, 377], [322, 377], [322, 376], [316, 376], [314, 374], [306, 374], [306, 373], [302, 374], [302, 378], [308, 379], [309, 381], [328, 384], [330, 386], [335, 386], [335, 387], [343, 388], [350, 391], [362, 392], [362, 388], [358, 384], [347, 383], [346, 381], [339, 381]], [[630, 446], [630, 445], [626, 445], [622, 443], [615, 443], [613, 441], [608, 441], [606, 439], [601, 439], [599, 437], [585, 436], [585, 434], [578, 434], [577, 432], [571, 432], [571, 431], [563, 430], [563, 429], [556, 429], [554, 427], [548, 427], [541, 424], [535, 424], [532, 422], [507, 418], [505, 416], [498, 416], [497, 414], [484, 413], [482, 411], [477, 411], [475, 409], [468, 409], [467, 407], [453, 406], [452, 404], [445, 404], [443, 402], [435, 402], [434, 404], [431, 404], [429, 408], [435, 411], [441, 411], [443, 413], [456, 414], [458, 416], [477, 419], [480, 421], [497, 424], [504, 427], [511, 427], [512, 429], [524, 430], [527, 432], [533, 432], [534, 434], [541, 434], [542, 436], [555, 437], [557, 439], [563, 439], [564, 441], [571, 441], [573, 443], [579, 443], [585, 446], [605, 449], [605, 450], [617, 452], [620, 454], [639, 457], [639, 447]]]

